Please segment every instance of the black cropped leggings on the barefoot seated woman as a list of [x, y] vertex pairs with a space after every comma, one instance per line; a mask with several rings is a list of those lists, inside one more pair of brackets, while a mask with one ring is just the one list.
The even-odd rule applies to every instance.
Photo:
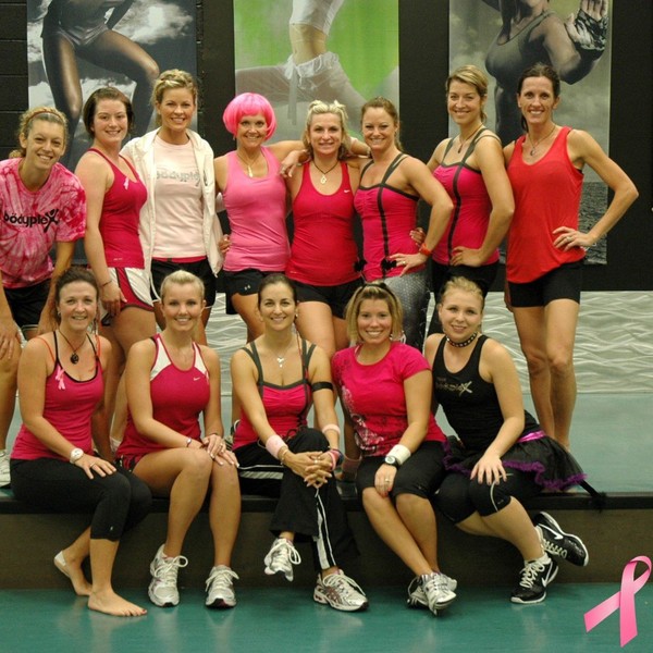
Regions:
[[57, 513], [93, 512], [90, 537], [116, 542], [150, 510], [152, 494], [132, 472], [89, 479], [84, 470], [57, 458], [11, 461], [11, 489], [19, 501]]

